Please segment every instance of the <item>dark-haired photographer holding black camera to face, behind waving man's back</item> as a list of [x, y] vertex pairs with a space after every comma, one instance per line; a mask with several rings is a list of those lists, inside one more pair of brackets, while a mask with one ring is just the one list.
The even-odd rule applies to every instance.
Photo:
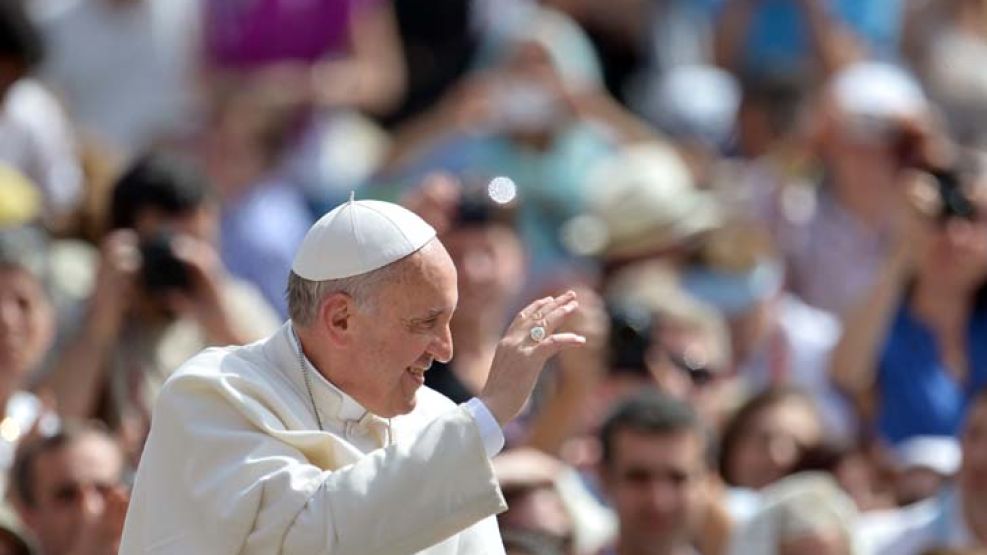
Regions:
[[209, 188], [191, 167], [145, 156], [116, 183], [110, 213], [87, 313], [46, 385], [64, 416], [100, 418], [136, 456], [172, 370], [206, 346], [257, 339], [277, 320], [226, 274]]

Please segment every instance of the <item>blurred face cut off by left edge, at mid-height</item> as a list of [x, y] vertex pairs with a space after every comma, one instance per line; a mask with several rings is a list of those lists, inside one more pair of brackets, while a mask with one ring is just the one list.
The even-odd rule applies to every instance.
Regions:
[[18, 387], [51, 345], [55, 317], [41, 283], [21, 268], [0, 267], [0, 380]]

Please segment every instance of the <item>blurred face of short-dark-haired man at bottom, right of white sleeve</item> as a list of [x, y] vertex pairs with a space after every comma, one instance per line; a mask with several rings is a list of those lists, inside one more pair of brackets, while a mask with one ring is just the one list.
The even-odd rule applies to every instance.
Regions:
[[604, 481], [625, 549], [662, 553], [688, 541], [705, 502], [703, 453], [695, 431], [616, 431]]

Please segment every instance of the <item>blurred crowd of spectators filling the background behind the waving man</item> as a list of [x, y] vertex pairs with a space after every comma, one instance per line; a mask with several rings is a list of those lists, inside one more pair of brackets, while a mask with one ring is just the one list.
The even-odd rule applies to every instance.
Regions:
[[0, 553], [116, 553], [351, 191], [455, 260], [457, 402], [579, 291], [509, 555], [983, 553], [985, 59], [984, 0], [0, 0]]

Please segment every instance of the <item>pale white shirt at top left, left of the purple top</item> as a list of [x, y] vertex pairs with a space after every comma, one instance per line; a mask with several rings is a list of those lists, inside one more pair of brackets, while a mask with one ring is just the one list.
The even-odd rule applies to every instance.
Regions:
[[86, 132], [124, 157], [139, 153], [190, 123], [199, 9], [195, 0], [39, 2], [44, 77]]

